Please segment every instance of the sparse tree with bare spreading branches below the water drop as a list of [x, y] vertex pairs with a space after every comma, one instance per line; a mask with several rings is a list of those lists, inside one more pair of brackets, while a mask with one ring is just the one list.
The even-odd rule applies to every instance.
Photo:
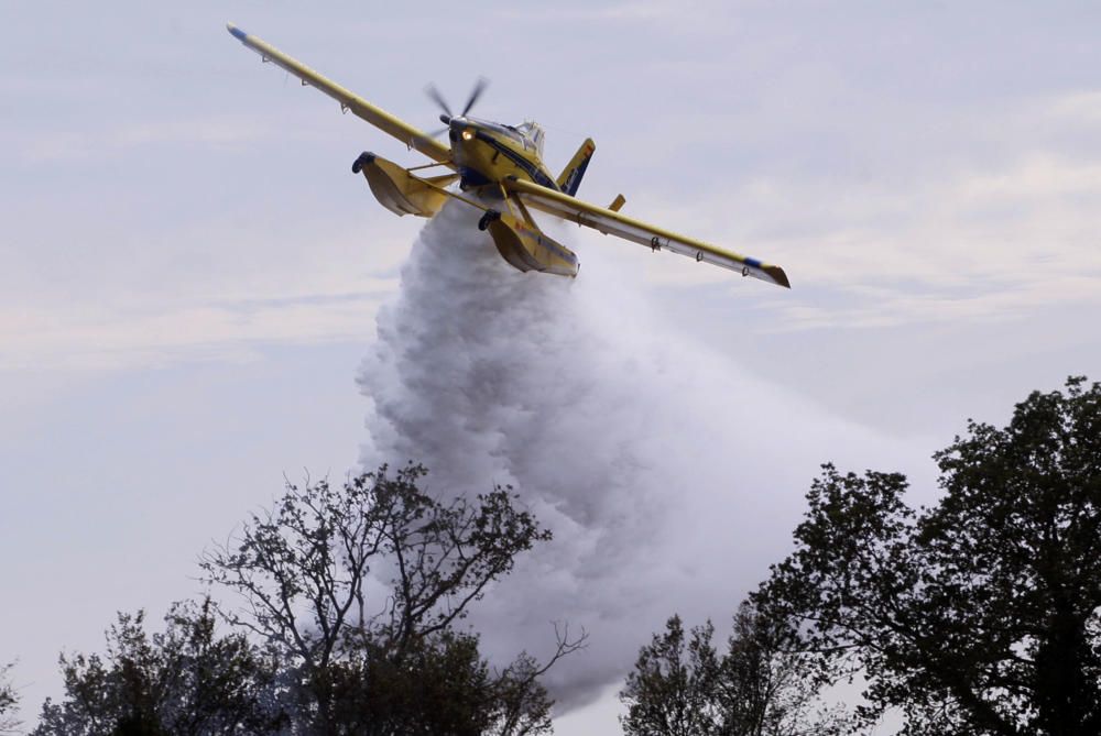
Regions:
[[509, 488], [444, 503], [419, 490], [424, 475], [408, 465], [391, 477], [383, 465], [342, 487], [287, 484], [273, 509], [204, 554], [203, 570], [240, 594], [229, 620], [281, 651], [305, 730], [539, 733], [550, 702], [537, 677], [584, 635], [560, 637], [546, 666], [522, 655], [490, 672], [477, 638], [455, 626], [550, 532]]

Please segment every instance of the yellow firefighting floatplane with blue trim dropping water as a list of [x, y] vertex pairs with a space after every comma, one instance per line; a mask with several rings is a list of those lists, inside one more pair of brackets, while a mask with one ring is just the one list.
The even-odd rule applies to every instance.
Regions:
[[[265, 63], [286, 69], [298, 77], [303, 86], [316, 87], [335, 99], [342, 112], [351, 110], [405, 143], [410, 150], [415, 149], [435, 162], [405, 168], [373, 153], [364, 152], [356, 158], [352, 172], [362, 173], [382, 206], [396, 215], [433, 217], [449, 197], [460, 199], [484, 212], [478, 227], [489, 230], [504, 260], [520, 271], [577, 275], [577, 255], [539, 230], [528, 211], [534, 209], [654, 251], [673, 251], [699, 263], [711, 263], [743, 276], [791, 288], [787, 275], [780, 266], [621, 215], [620, 208], [625, 201], [623, 195], [615, 197], [608, 207], [576, 198], [574, 195], [596, 150], [592, 139], [586, 140], [562, 175], [554, 177], [543, 163], [543, 129], [538, 124], [504, 125], [468, 114], [484, 89], [483, 81], [475, 87], [458, 116], [451, 114], [435, 88], [429, 88], [429, 95], [444, 109], [439, 119], [447, 127], [451, 143], [448, 146], [232, 23], [227, 23], [226, 28], [235, 39], [260, 54]], [[414, 174], [434, 166], [451, 171], [428, 177]], [[459, 183], [461, 191], [472, 193], [478, 199], [448, 189], [455, 182]]]

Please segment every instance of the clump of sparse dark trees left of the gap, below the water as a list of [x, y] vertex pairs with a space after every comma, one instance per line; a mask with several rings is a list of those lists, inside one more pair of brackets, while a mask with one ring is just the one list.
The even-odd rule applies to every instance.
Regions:
[[546, 662], [521, 652], [492, 667], [458, 622], [550, 535], [509, 488], [442, 501], [424, 474], [383, 466], [342, 486], [287, 484], [201, 557], [236, 604], [177, 604], [153, 635], [143, 613], [120, 614], [105, 656], [62, 656], [65, 697], [46, 701], [34, 735], [549, 732], [539, 678], [584, 634], [556, 629]]

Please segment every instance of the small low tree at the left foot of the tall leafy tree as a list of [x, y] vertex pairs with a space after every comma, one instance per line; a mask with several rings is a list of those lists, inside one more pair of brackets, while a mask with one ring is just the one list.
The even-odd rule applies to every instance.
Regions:
[[827, 736], [846, 733], [843, 708], [819, 699], [821, 680], [808, 677], [791, 651], [794, 633], [744, 602], [721, 657], [708, 622], [686, 637], [680, 618], [666, 623], [639, 655], [620, 700], [629, 736]]

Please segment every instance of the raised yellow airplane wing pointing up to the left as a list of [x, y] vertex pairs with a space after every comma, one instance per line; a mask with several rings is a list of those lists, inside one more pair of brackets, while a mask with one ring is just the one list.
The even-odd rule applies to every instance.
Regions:
[[434, 161], [442, 164], [451, 164], [451, 150], [439, 141], [417, 130], [413, 125], [410, 125], [405, 121], [395, 118], [385, 110], [374, 107], [363, 98], [345, 89], [335, 81], [326, 79], [302, 62], [287, 56], [279, 48], [275, 48], [275, 46], [272, 46], [261, 39], [246, 33], [232, 23], [227, 23], [226, 29], [235, 39], [260, 54], [264, 62], [271, 62], [275, 66], [286, 69], [294, 76], [302, 79], [303, 86], [316, 87], [335, 99], [340, 103], [341, 110], [351, 110], [358, 117], [371, 123], [379, 130], [390, 133], [405, 145], [411, 149], [416, 149]]

